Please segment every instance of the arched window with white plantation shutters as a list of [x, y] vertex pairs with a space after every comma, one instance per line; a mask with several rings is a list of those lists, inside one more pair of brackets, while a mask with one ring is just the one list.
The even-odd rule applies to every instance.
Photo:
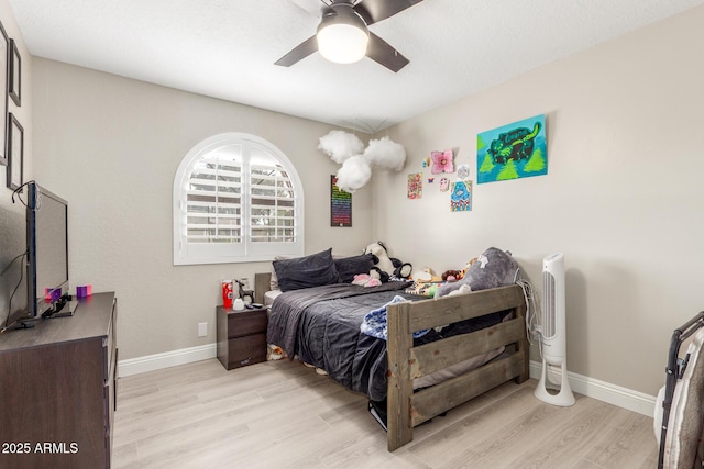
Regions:
[[188, 152], [174, 178], [174, 265], [302, 254], [304, 190], [286, 155], [242, 133]]

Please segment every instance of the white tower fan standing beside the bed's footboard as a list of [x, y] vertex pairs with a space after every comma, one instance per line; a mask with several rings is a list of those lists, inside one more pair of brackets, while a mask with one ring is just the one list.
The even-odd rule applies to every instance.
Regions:
[[536, 398], [552, 405], [563, 407], [573, 405], [574, 394], [572, 394], [568, 380], [566, 366], [564, 255], [562, 253], [551, 254], [542, 259], [542, 316], [540, 322], [542, 324], [540, 333], [542, 372], [536, 388]]

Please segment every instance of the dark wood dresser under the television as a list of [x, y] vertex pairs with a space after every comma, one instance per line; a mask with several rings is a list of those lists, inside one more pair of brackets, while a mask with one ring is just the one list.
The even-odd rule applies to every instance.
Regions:
[[117, 314], [114, 293], [97, 293], [0, 335], [0, 467], [110, 467]]

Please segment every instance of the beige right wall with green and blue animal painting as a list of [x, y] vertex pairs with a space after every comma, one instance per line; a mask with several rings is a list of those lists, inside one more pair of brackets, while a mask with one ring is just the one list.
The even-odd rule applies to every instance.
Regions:
[[[703, 308], [702, 24], [696, 8], [395, 126], [409, 161], [375, 180], [378, 236], [438, 272], [509, 249], [537, 288], [563, 252], [569, 369], [654, 395], [672, 331]], [[543, 113], [547, 176], [475, 185], [470, 213], [437, 183], [406, 199], [431, 150], [476, 180], [476, 134]]]

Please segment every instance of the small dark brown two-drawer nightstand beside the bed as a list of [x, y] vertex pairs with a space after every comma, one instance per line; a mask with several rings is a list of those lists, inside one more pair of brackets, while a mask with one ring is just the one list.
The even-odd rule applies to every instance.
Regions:
[[234, 311], [218, 306], [218, 359], [223, 367], [245, 367], [266, 361], [266, 308]]

